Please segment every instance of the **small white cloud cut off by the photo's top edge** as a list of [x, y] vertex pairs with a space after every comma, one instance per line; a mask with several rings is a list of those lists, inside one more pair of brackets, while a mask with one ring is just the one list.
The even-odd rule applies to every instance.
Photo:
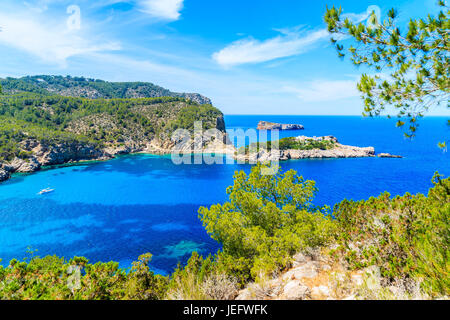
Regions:
[[178, 20], [183, 9], [183, 0], [139, 0], [140, 10], [155, 18]]

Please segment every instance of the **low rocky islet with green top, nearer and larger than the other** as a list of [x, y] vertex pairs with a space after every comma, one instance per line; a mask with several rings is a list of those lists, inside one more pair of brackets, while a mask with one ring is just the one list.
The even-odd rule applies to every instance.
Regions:
[[[307, 158], [363, 158], [375, 157], [373, 147], [354, 147], [340, 144], [336, 137], [288, 137], [278, 140], [278, 147], [272, 148], [272, 142], [251, 144], [240, 148], [235, 159], [245, 162], [265, 162]], [[388, 153], [380, 157], [401, 158]]]

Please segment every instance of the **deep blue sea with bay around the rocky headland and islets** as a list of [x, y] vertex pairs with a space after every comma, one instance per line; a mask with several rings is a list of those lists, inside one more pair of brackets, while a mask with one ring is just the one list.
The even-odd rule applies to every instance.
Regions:
[[[283, 170], [295, 169], [317, 182], [317, 204], [332, 206], [344, 198], [367, 199], [383, 191], [425, 193], [436, 170], [450, 174], [450, 154], [437, 147], [450, 133], [443, 117], [421, 120], [413, 140], [386, 118], [225, 117], [228, 129], [255, 128], [260, 120], [305, 126], [303, 131], [282, 132], [282, 137], [334, 135], [344, 144], [404, 157], [282, 162]], [[233, 172], [249, 169], [238, 164], [175, 165], [170, 156], [131, 155], [14, 175], [0, 184], [2, 264], [37, 250], [35, 255], [85, 256], [127, 268], [151, 252], [152, 268], [166, 274], [194, 250], [207, 255], [219, 249], [205, 233], [197, 210], [225, 201]], [[55, 191], [37, 194], [47, 187]]]

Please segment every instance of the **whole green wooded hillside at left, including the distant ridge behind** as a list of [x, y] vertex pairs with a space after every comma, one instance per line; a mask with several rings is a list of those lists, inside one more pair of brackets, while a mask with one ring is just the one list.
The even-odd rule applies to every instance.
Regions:
[[[0, 162], [31, 157], [33, 152], [27, 141], [50, 146], [72, 141], [90, 143], [96, 148], [140, 145], [154, 138], [170, 140], [174, 130], [192, 129], [196, 120], [202, 120], [206, 129], [215, 128], [223, 117], [210, 104], [177, 96], [122, 98], [130, 88], [140, 88], [142, 94], [149, 96], [157, 90], [160, 94], [171, 94], [152, 84], [139, 87], [140, 83], [52, 76], [9, 78], [1, 82]], [[62, 88], [70, 92], [95, 89], [102, 97], [56, 94], [68, 93]]]

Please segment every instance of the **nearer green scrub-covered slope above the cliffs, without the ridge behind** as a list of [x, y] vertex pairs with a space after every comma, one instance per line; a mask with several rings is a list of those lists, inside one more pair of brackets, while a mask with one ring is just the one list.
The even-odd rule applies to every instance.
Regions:
[[0, 96], [0, 161], [26, 158], [26, 139], [55, 144], [91, 142], [98, 146], [170, 138], [174, 129], [192, 129], [203, 120], [214, 128], [222, 113], [178, 97], [87, 99], [21, 92]]

